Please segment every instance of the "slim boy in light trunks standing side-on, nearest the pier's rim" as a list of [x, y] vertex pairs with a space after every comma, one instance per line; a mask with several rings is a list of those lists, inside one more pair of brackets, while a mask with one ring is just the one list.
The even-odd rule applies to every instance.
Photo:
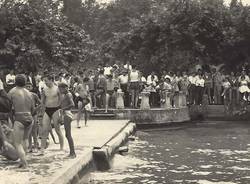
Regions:
[[73, 96], [68, 90], [67, 83], [59, 83], [58, 87], [60, 93], [62, 94], [61, 109], [63, 114], [65, 136], [68, 140], [69, 150], [70, 150], [68, 157], [75, 158], [76, 153], [75, 153], [74, 141], [71, 135], [71, 122], [73, 120], [73, 114], [71, 113], [71, 109], [75, 106], [73, 101]]

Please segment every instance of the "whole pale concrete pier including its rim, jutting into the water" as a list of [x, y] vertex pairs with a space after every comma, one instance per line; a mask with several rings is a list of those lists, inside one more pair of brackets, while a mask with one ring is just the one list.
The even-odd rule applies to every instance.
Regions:
[[[64, 131], [63, 128], [62, 131]], [[29, 168], [26, 170], [18, 169], [17, 162], [7, 161], [0, 156], [0, 183], [77, 183], [84, 172], [99, 164], [98, 160], [94, 160], [94, 152], [106, 150], [106, 159], [110, 160], [134, 131], [135, 124], [128, 120], [90, 120], [88, 126], [83, 126], [81, 129], [77, 129], [76, 123], [72, 122], [77, 158], [66, 158], [69, 152], [66, 138], [66, 151], [59, 151], [59, 145], [50, 141], [45, 156], [28, 154]]]

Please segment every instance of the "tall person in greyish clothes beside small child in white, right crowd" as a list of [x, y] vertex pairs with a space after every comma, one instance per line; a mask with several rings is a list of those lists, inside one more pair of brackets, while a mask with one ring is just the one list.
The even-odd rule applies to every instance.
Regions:
[[222, 104], [221, 93], [222, 93], [222, 81], [223, 76], [220, 71], [213, 69], [213, 83], [214, 83], [214, 103]]

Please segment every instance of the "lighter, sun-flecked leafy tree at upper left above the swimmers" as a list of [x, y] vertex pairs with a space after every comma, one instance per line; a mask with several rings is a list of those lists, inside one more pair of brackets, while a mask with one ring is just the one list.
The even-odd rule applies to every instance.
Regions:
[[[69, 67], [95, 57], [94, 42], [60, 14], [59, 4], [5, 1], [0, 6], [0, 61], [19, 70]], [[58, 67], [56, 67], [58, 68]]]

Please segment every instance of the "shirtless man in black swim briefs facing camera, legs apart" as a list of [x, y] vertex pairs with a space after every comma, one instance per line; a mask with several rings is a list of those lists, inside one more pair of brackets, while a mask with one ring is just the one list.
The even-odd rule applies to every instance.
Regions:
[[54, 83], [53, 76], [45, 78], [46, 87], [42, 91], [42, 105], [44, 106], [45, 113], [42, 121], [42, 140], [41, 152], [39, 155], [44, 155], [44, 149], [47, 147], [47, 138], [51, 128], [51, 121], [54, 123], [55, 131], [59, 138], [60, 150], [63, 150], [63, 135], [60, 130], [61, 122], [61, 97], [58, 87]]

